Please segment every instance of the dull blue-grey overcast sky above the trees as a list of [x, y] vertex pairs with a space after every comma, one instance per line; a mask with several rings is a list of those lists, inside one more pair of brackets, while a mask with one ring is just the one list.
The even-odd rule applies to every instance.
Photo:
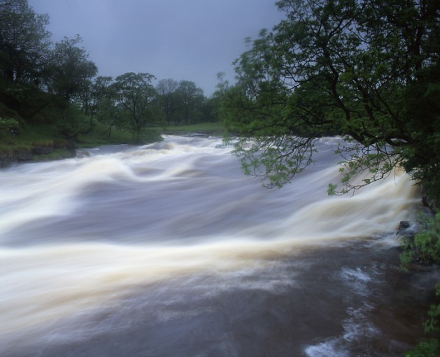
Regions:
[[79, 34], [99, 75], [150, 73], [191, 80], [211, 96], [217, 73], [283, 19], [275, 0], [28, 0], [48, 14], [53, 41]]

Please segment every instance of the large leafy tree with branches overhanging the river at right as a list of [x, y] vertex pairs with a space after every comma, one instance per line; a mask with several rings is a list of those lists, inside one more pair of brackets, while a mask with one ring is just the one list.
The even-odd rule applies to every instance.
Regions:
[[[252, 136], [243, 165], [281, 186], [313, 160], [316, 138], [344, 136], [342, 192], [404, 167], [440, 202], [440, 4], [435, 0], [282, 0], [273, 31], [235, 62], [229, 129]], [[246, 140], [246, 139], [245, 139]]]

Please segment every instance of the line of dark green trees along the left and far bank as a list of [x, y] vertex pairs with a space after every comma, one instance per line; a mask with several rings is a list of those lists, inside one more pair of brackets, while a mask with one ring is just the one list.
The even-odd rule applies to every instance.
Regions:
[[194, 82], [101, 76], [82, 38], [54, 43], [48, 23], [27, 0], [0, 0], [0, 133], [45, 122], [75, 139], [101, 123], [109, 136], [117, 127], [141, 142], [152, 128], [218, 121], [218, 96]]

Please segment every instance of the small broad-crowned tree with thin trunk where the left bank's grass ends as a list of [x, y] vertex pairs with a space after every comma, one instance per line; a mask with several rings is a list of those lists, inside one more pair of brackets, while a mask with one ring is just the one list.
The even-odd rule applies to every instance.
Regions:
[[144, 129], [158, 126], [164, 119], [156, 102], [155, 87], [151, 84], [154, 78], [150, 73], [130, 72], [116, 77], [113, 84], [120, 107], [129, 112], [135, 140], [142, 140]]

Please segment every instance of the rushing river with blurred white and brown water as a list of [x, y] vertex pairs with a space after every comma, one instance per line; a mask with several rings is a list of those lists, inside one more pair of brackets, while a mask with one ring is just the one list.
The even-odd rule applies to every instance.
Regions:
[[398, 269], [420, 196], [327, 196], [335, 144], [278, 190], [218, 138], [2, 170], [0, 356], [401, 356], [435, 275]]

